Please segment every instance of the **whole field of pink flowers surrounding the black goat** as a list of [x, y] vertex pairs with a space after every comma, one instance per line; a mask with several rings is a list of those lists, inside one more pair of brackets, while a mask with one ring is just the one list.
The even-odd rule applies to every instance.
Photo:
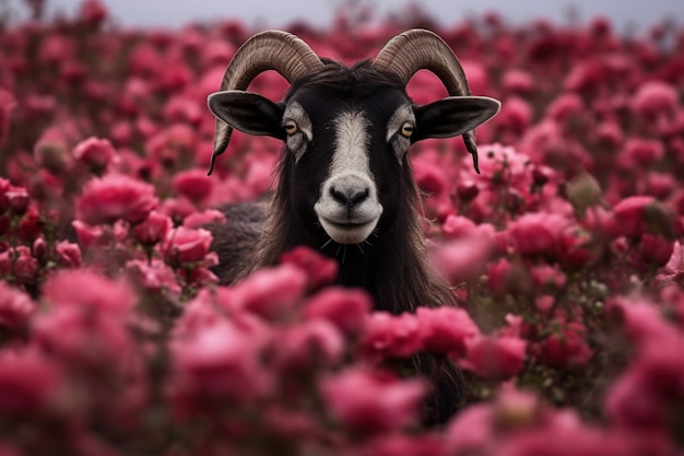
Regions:
[[[502, 101], [481, 174], [460, 138], [412, 149], [460, 306], [400, 315], [304, 247], [217, 284], [203, 226], [269, 191], [281, 149], [235, 133], [207, 175], [207, 96], [258, 30], [127, 30], [96, 0], [0, 19], [0, 456], [684, 454], [684, 28], [414, 13], [287, 27], [345, 62], [432, 28]], [[420, 352], [465, 375], [444, 425], [387, 367]]]

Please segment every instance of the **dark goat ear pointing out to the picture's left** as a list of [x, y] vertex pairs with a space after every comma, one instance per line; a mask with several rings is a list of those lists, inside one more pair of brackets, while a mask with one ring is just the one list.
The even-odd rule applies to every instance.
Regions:
[[284, 107], [269, 98], [250, 92], [223, 91], [209, 95], [207, 104], [214, 116], [236, 130], [285, 139], [281, 125]]

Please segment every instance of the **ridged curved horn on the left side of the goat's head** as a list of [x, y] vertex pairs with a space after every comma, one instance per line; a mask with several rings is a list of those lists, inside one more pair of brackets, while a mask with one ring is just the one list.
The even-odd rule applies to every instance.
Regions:
[[[249, 38], [235, 52], [223, 75], [221, 91], [244, 91], [257, 75], [267, 70], [278, 71], [292, 84], [322, 66], [316, 52], [300, 38], [287, 32], [266, 31]], [[233, 128], [216, 118], [214, 152], [208, 174], [212, 173], [216, 157], [228, 147], [232, 133]]]

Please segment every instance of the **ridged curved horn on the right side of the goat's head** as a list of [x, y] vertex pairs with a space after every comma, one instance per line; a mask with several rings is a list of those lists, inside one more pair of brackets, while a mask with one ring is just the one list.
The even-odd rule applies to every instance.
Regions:
[[[415, 28], [394, 36], [380, 50], [373, 66], [396, 73], [404, 85], [418, 70], [429, 70], [439, 78], [450, 96], [470, 95], [465, 73], [453, 50], [438, 35], [427, 30]], [[473, 156], [475, 171], [480, 174], [475, 130], [463, 133], [463, 142]]]

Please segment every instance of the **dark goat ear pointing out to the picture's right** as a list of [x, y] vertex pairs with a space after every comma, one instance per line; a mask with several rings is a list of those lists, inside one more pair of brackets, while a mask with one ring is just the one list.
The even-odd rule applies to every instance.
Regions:
[[502, 104], [488, 96], [449, 96], [417, 106], [413, 142], [463, 135], [496, 116]]

